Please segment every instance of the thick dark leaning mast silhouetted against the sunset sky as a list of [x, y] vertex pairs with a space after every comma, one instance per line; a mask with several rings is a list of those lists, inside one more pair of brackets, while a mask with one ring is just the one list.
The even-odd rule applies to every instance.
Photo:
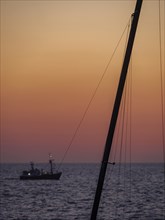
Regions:
[[96, 193], [95, 193], [95, 199], [94, 199], [93, 209], [92, 209], [92, 214], [91, 214], [91, 220], [96, 220], [96, 217], [97, 217], [98, 207], [99, 207], [99, 203], [100, 203], [100, 197], [101, 197], [102, 188], [103, 188], [103, 184], [104, 184], [104, 178], [105, 178], [107, 164], [108, 164], [108, 160], [109, 160], [109, 154], [111, 151], [114, 131], [115, 131], [116, 123], [117, 123], [120, 103], [121, 103], [122, 94], [123, 94], [123, 90], [124, 90], [125, 80], [126, 80], [126, 76], [127, 76], [127, 70], [128, 70], [128, 66], [129, 66], [129, 61], [130, 61], [130, 57], [131, 57], [134, 39], [135, 39], [135, 34], [136, 34], [137, 25], [138, 25], [142, 2], [143, 2], [143, 0], [137, 0], [135, 11], [132, 15], [133, 20], [132, 20], [131, 30], [130, 30], [130, 34], [129, 34], [127, 49], [125, 52], [125, 58], [124, 58], [124, 62], [123, 62], [123, 66], [122, 66], [122, 70], [121, 70], [121, 74], [120, 74], [120, 80], [119, 80], [117, 94], [116, 94], [116, 98], [115, 98], [115, 102], [114, 102], [112, 117], [111, 117], [111, 121], [110, 121], [109, 131], [108, 131], [104, 154], [103, 154], [103, 159], [102, 159], [102, 163], [101, 163], [100, 174], [99, 174], [99, 179], [98, 179], [98, 184], [97, 184], [97, 189], [96, 189]]

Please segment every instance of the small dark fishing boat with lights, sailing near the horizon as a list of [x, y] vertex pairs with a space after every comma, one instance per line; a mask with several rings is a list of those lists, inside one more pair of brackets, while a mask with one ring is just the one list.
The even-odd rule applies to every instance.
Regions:
[[20, 180], [59, 180], [62, 172], [53, 172], [53, 159], [49, 159], [50, 171], [34, 168], [34, 163], [31, 162], [31, 169], [24, 170], [20, 175]]

